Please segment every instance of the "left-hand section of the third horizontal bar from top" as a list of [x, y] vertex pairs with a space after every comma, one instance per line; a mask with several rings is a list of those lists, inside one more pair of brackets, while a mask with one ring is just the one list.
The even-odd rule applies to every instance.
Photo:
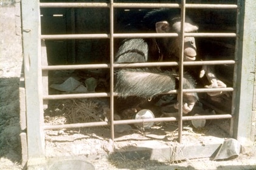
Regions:
[[42, 66], [42, 70], [80, 70], [80, 69], [95, 69], [95, 68], [110, 68], [110, 64], [78, 64], [78, 65]]

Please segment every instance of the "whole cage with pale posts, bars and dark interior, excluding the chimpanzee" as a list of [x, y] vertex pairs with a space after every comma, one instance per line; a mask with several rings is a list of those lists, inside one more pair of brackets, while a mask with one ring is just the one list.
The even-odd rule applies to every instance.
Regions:
[[[252, 1], [239, 0], [21, 1], [24, 91], [26, 93], [24, 96], [26, 98], [23, 99], [26, 108], [21, 106], [22, 110], [25, 110], [21, 115], [21, 127], [24, 131], [21, 134], [21, 141], [22, 156], [25, 162], [28, 161], [28, 168], [40, 164], [40, 166], [45, 166], [43, 164], [47, 162], [46, 157], [69, 155], [56, 154], [58, 151], [51, 150], [49, 146], [52, 145], [52, 141], [60, 142], [64, 139], [50, 139], [50, 136], [62, 136], [63, 134], [68, 136], [75, 131], [74, 129], [79, 129], [78, 134], [80, 129], [85, 129], [83, 131], [85, 136], [82, 138], [93, 138], [95, 136], [88, 134], [100, 131], [99, 136], [104, 139], [111, 139], [114, 143], [120, 143], [120, 141], [125, 140], [120, 137], [123, 136], [121, 127], [125, 125], [158, 122], [159, 127], [171, 131], [167, 126], [173, 125], [163, 123], [177, 122], [175, 124], [176, 129], [178, 129], [176, 136], [173, 136], [173, 133], [165, 132], [164, 139], [167, 142], [160, 149], [163, 157], [157, 157], [156, 154], [147, 152], [148, 149], [154, 148], [148, 146], [152, 143], [148, 144], [145, 142], [148, 139], [142, 137], [138, 139], [143, 142], [135, 142], [137, 146], [140, 146], [138, 147], [140, 150], [144, 150], [141, 154], [137, 154], [138, 159], [140, 157], [155, 157], [154, 159], [164, 160], [184, 159], [177, 153], [173, 157], [170, 145], [173, 146], [174, 141], [179, 143], [185, 141], [186, 143], [187, 141], [182, 136], [186, 129], [184, 126], [190, 121], [196, 123], [196, 120], [199, 120], [199, 123], [203, 122], [204, 125], [199, 125], [201, 128], [204, 128], [210, 120], [223, 120], [224, 123], [217, 122], [219, 125], [227, 123], [227, 133], [223, 132], [224, 135], [220, 136], [219, 139], [232, 137], [242, 145], [253, 140], [251, 122], [254, 114], [252, 106], [255, 81], [255, 43], [253, 39], [255, 33], [252, 30], [254, 30], [255, 20], [250, 17], [253, 11], [252, 4]], [[140, 20], [141, 13], [157, 8], [179, 10], [181, 15], [180, 33], [148, 33], [137, 29], [133, 30], [130, 27], [130, 23], [136, 24]], [[184, 31], [185, 16], [187, 15], [199, 25], [198, 32], [187, 33]], [[118, 44], [123, 39], [155, 39], [164, 36], [180, 39], [179, 54], [181, 57], [179, 60], [132, 64], [114, 62], [114, 56], [119, 48]], [[184, 44], [184, 38], [191, 36], [196, 39], [197, 56], [202, 57], [201, 60], [183, 60], [184, 45], [182, 44]], [[114, 99], [118, 94], [114, 91], [114, 74], [120, 68], [131, 67], [177, 67], [179, 79], [181, 79], [179, 88], [165, 93], [171, 96], [171, 99], [167, 97], [167, 100], [170, 100], [171, 103], [173, 96], [178, 96], [174, 101], [177, 102], [178, 100], [179, 103], [183, 103], [182, 94], [198, 93], [199, 102], [198, 105], [194, 106], [193, 114], [182, 114], [182, 105], [178, 105], [178, 110], [173, 110], [173, 105], [165, 105], [164, 107], [157, 105], [151, 108], [150, 103], [144, 107], [153, 110], [155, 118], [133, 119], [134, 117], [131, 116], [128, 119], [120, 120], [120, 117], [116, 117], [114, 108], [116, 100]], [[203, 67], [215, 70], [214, 74], [218, 80], [224, 82], [227, 87], [204, 88], [203, 81], [196, 79], [198, 87], [184, 89], [182, 80], [184, 72], [187, 70], [195, 72], [198, 68]], [[193, 74], [199, 76], [198, 72]], [[75, 77], [75, 79], [69, 79], [68, 85], [65, 85], [64, 88], [71, 86], [72, 90], [62, 90], [65, 91], [63, 93], [60, 92], [60, 88], [63, 87], [58, 86], [58, 90], [52, 88], [54, 87], [52, 84], [55, 84], [56, 87], [56, 83], [63, 83], [70, 77]], [[97, 82], [96, 85], [92, 82], [86, 83], [89, 78], [94, 78], [92, 80]], [[72, 87], [77, 80], [80, 81], [79, 85], [86, 86], [86, 91], [73, 91], [74, 88], [78, 87], [78, 85]], [[90, 85], [93, 87], [92, 90], [88, 91]], [[217, 97], [207, 95], [207, 93], [216, 92], [223, 93], [223, 95]], [[71, 108], [72, 105], [77, 106], [79, 103], [81, 105], [78, 109], [83, 108], [84, 110], [75, 111]], [[88, 111], [85, 110], [89, 107], [87, 104], [92, 108], [95, 107], [95, 110], [90, 113], [91, 117], [81, 117], [81, 114]], [[64, 120], [51, 122], [51, 117], [56, 116], [57, 112], [58, 115], [65, 115], [60, 117]], [[78, 120], [78, 117], [81, 119]], [[54, 117], [54, 119], [56, 120], [58, 117]], [[102, 126], [104, 128], [97, 129], [97, 127]], [[130, 128], [131, 126], [128, 126], [127, 129], [130, 130]], [[64, 132], [67, 129], [72, 129], [72, 131]], [[121, 130], [117, 133], [115, 129]], [[133, 129], [137, 128], [133, 127]], [[152, 139], [154, 134], [162, 132], [161, 128], [159, 129], [147, 129], [151, 135], [146, 135], [146, 137]], [[218, 128], [213, 131], [215, 130], [218, 131], [213, 132], [215, 135], [223, 131], [223, 129]], [[146, 129], [140, 128], [144, 137], [145, 131]], [[130, 134], [133, 133], [136, 132], [130, 131]], [[207, 135], [210, 136], [211, 134]], [[72, 139], [71, 143], [74, 143], [74, 140], [76, 138]], [[126, 141], [128, 140], [130, 139], [126, 139]], [[163, 140], [160, 141], [162, 143]], [[212, 143], [209, 145], [207, 143], [204, 146], [184, 144], [187, 147], [182, 149], [182, 155], [186, 153], [189, 158], [210, 157], [220, 146], [220, 141], [218, 140], [216, 145], [212, 145]], [[157, 142], [153, 142], [154, 146], [159, 145]], [[71, 143], [69, 145], [72, 145]], [[57, 144], [55, 145], [57, 146]], [[72, 151], [69, 156], [88, 154], [86, 149], [90, 149], [92, 146], [89, 143], [85, 145], [81, 143], [75, 145], [75, 151]], [[111, 143], [111, 145], [114, 144]], [[121, 146], [122, 143], [120, 143]], [[61, 148], [62, 146], [58, 145], [58, 147]], [[76, 147], [84, 147], [85, 149], [78, 151], [79, 149]], [[130, 151], [127, 157], [131, 152], [134, 152], [134, 147], [124, 146], [124, 148], [125, 152]], [[197, 148], [202, 153], [204, 150], [208, 150], [208, 152], [201, 155], [192, 154], [192, 148]], [[109, 152], [112, 151], [114, 150], [110, 149]], [[50, 152], [55, 152], [55, 154]]]

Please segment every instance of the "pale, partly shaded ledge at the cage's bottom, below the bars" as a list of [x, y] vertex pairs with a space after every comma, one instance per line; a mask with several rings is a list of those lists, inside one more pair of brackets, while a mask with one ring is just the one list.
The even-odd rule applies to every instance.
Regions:
[[167, 146], [157, 141], [139, 142], [136, 147], [123, 148], [110, 155], [111, 159], [144, 159], [157, 160], [159, 162], [178, 161], [213, 157], [221, 143], [212, 145], [184, 146], [174, 143]]

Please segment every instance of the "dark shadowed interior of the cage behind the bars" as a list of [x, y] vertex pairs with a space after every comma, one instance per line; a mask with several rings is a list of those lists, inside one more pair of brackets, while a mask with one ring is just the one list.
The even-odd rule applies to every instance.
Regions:
[[[41, 2], [60, 2], [60, 1], [41, 1]], [[91, 2], [91, 1], [61, 1], [61, 2]], [[108, 1], [94, 1], [108, 2]], [[180, 3], [181, 1], [114, 1], [114, 2], [138, 2], [138, 3]], [[187, 4], [237, 4], [231, 0], [188, 0]], [[114, 33], [144, 33], [140, 30], [140, 21], [149, 8], [114, 8]], [[173, 11], [180, 12], [180, 9], [173, 8]], [[110, 17], [108, 8], [41, 8], [41, 34], [109, 34]], [[236, 33], [237, 29], [237, 9], [221, 8], [187, 8], [186, 15], [198, 25], [198, 33]], [[138, 26], [138, 27], [137, 27]], [[114, 39], [114, 51], [117, 53], [123, 39]], [[234, 60], [236, 38], [230, 37], [196, 37], [196, 60]], [[47, 60], [49, 65], [74, 65], [74, 64], [109, 64], [110, 44], [108, 38], [103, 39], [47, 39], [45, 40], [47, 49]], [[172, 60], [178, 61], [178, 60]], [[210, 65], [218, 80], [223, 82], [226, 87], [233, 87], [234, 65]], [[117, 70], [117, 69], [116, 69]], [[115, 70], [115, 71], [116, 71]], [[210, 80], [204, 76], [199, 78], [202, 65], [185, 65], [184, 70], [189, 72], [195, 79], [196, 88], [204, 88], [210, 85]], [[89, 70], [69, 70], [69, 71], [49, 71], [49, 94], [63, 94], [54, 87], [57, 83], [63, 83], [68, 77], [75, 77], [86, 88], [96, 85], [89, 92], [109, 92], [109, 70], [103, 68]], [[86, 80], [92, 78], [92, 82], [86, 84]], [[73, 83], [73, 82], [72, 82]], [[53, 86], [52, 86], [53, 85]], [[150, 91], [150, 89], [148, 89]], [[69, 91], [67, 93], [83, 93], [83, 91]], [[216, 108], [217, 113], [230, 113], [232, 108], [232, 92], [226, 91], [221, 95], [211, 96], [207, 93], [198, 93], [199, 106], [206, 108]], [[168, 98], [168, 97], [167, 97]], [[165, 98], [166, 99], [166, 98]], [[168, 105], [176, 102], [175, 95], [171, 95], [167, 103], [160, 97], [153, 97], [154, 106], [157, 109], [170, 110]], [[129, 100], [128, 103], [137, 102]], [[159, 101], [163, 103], [159, 104]], [[122, 101], [123, 102], [123, 101]], [[156, 104], [157, 103], [157, 104]], [[102, 105], [109, 105], [103, 102]], [[140, 105], [140, 108], [151, 108], [152, 103]], [[212, 107], [212, 106], [213, 107]], [[160, 107], [159, 107], [160, 106]], [[162, 107], [161, 107], [162, 106]], [[108, 108], [108, 106], [106, 106]], [[108, 109], [101, 108], [103, 113]], [[167, 111], [167, 112], [168, 112]], [[115, 113], [116, 111], [114, 111]], [[157, 113], [160, 111], [155, 111]], [[157, 114], [155, 115], [157, 116]], [[158, 116], [161, 116], [159, 114]], [[123, 114], [121, 117], [127, 118]], [[132, 117], [128, 117], [132, 118]], [[114, 118], [115, 119], [115, 118]]]

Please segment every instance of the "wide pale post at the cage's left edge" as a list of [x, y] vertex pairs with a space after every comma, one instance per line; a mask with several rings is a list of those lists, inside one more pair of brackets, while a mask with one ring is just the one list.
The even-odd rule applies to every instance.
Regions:
[[39, 1], [21, 4], [28, 159], [35, 159], [44, 157], [40, 7]]

